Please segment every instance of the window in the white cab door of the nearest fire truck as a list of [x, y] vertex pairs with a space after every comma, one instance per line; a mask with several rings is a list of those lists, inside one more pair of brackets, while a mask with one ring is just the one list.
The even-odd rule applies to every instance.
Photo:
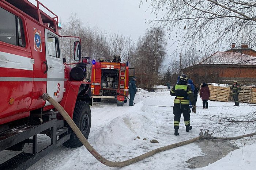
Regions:
[[48, 55], [60, 58], [59, 39], [51, 34], [47, 34]]

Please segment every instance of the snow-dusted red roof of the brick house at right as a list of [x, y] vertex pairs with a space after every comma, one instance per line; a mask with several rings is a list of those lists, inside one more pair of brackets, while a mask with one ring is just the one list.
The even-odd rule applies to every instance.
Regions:
[[256, 65], [256, 57], [237, 52], [216, 52], [199, 64]]

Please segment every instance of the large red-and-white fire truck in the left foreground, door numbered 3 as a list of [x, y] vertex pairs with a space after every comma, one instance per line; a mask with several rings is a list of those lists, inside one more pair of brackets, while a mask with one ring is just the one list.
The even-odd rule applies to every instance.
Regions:
[[[80, 42], [75, 42], [76, 66], [71, 68], [61, 52], [58, 16], [34, 2], [0, 0], [0, 169], [27, 169], [61, 144], [82, 145], [42, 99], [44, 93], [67, 111], [86, 138], [90, 133], [91, 85], [83, 81], [90, 58], [81, 59]], [[39, 134], [50, 137], [50, 144], [42, 147]], [[30, 150], [24, 150], [25, 144]], [[20, 152], [10, 158], [7, 150]]]

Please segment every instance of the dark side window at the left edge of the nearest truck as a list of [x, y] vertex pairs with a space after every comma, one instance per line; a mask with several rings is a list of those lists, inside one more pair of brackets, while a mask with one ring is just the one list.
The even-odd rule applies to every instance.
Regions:
[[22, 19], [0, 7], [0, 41], [25, 47]]

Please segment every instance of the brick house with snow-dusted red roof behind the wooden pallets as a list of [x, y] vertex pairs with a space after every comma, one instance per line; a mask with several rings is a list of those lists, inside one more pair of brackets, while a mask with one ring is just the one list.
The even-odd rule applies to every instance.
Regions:
[[[252, 55], [248, 55], [248, 51], [251, 51]], [[194, 83], [199, 84], [203, 82], [230, 84], [237, 80], [241, 85], [256, 85], [256, 51], [255, 56], [254, 50], [248, 51], [218, 51], [199, 64], [181, 71]]]

